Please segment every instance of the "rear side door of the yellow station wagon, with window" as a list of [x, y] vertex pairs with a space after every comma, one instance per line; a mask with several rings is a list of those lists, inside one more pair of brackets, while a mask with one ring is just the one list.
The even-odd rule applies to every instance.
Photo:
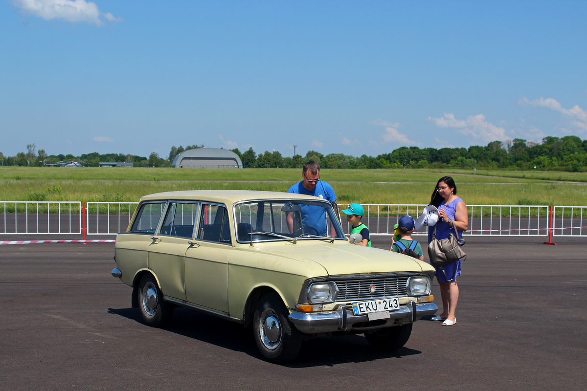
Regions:
[[185, 300], [185, 251], [191, 246], [197, 212], [197, 203], [170, 201], [149, 247], [149, 268], [167, 297]]

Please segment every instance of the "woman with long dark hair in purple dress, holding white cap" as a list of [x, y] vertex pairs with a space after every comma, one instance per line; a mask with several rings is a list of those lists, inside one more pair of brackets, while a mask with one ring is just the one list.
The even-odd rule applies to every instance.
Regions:
[[[436, 223], [436, 239], [447, 239], [449, 233], [457, 237], [463, 237], [463, 231], [466, 231], [469, 225], [467, 215], [467, 205], [457, 197], [457, 185], [453, 178], [444, 176], [436, 183], [434, 192], [430, 198], [430, 205], [438, 208], [438, 222]], [[454, 225], [457, 232], [454, 232]], [[428, 243], [432, 240], [434, 227], [428, 228]], [[436, 268], [436, 279], [440, 285], [440, 297], [442, 298], [442, 314], [436, 315], [433, 320], [443, 321], [443, 326], [452, 326], [456, 324], [457, 318], [455, 312], [458, 302], [458, 285], [457, 276], [461, 275], [461, 260], [454, 261], [442, 268]]]

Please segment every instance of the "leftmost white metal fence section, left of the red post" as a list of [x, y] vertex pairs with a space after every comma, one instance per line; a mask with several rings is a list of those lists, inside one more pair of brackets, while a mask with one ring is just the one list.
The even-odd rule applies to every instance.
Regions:
[[0, 201], [0, 234], [79, 234], [82, 203], [78, 201]]

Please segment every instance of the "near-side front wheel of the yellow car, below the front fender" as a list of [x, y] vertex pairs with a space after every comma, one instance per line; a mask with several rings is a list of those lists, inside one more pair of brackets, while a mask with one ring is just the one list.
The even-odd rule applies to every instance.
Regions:
[[288, 319], [288, 311], [276, 293], [261, 297], [253, 316], [253, 334], [259, 352], [269, 362], [288, 362], [298, 355], [302, 332]]

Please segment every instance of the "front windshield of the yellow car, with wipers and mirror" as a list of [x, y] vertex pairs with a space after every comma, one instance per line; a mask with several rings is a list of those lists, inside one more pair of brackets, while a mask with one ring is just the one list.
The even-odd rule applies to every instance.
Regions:
[[258, 200], [235, 205], [238, 242], [345, 239], [329, 202]]

